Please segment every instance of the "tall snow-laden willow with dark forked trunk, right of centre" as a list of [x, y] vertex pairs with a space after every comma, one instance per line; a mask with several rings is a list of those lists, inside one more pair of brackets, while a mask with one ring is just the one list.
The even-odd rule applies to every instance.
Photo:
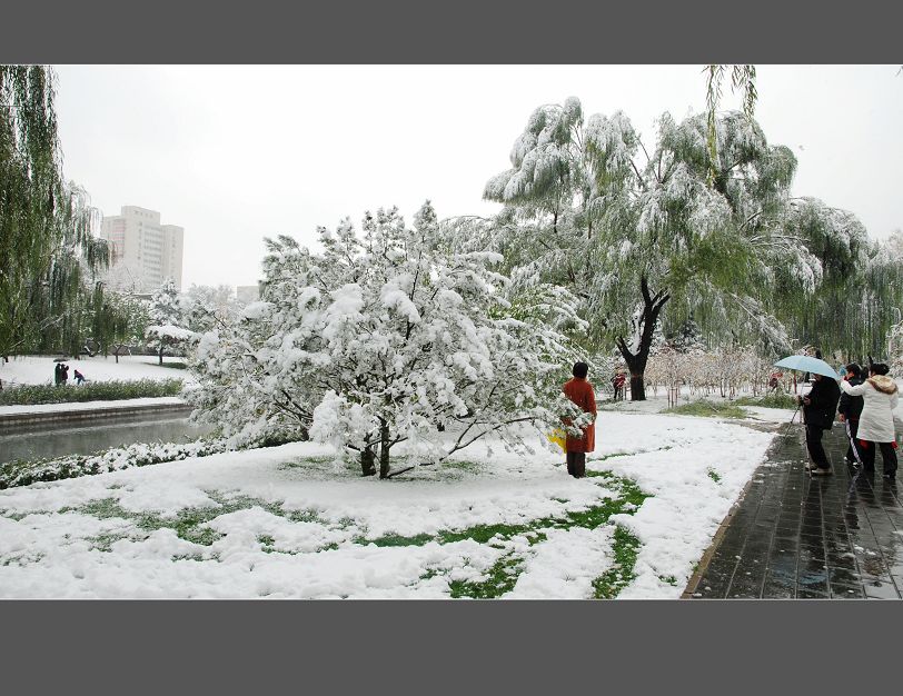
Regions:
[[649, 155], [621, 112], [585, 121], [575, 98], [539, 107], [512, 168], [486, 185], [502, 213], [452, 229], [503, 251], [516, 282], [560, 284], [580, 297], [597, 340], [616, 340], [634, 399], [644, 398], [654, 327], [669, 301], [677, 321], [694, 311], [706, 330], [784, 349], [783, 324], [761, 300], [772, 265], [783, 252], [797, 277], [815, 275], [816, 259], [781, 227], [793, 155], [768, 146], [742, 113], [716, 126], [713, 162], [704, 116], [677, 123], [665, 115]]

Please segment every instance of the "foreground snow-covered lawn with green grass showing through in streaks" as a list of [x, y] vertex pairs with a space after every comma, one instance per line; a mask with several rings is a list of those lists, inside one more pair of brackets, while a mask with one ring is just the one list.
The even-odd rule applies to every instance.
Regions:
[[771, 438], [602, 412], [582, 480], [538, 443], [384, 481], [296, 443], [12, 488], [0, 596], [677, 597]]

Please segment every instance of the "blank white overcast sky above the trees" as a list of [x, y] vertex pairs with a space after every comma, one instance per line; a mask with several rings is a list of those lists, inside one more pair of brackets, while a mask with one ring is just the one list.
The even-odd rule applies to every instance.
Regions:
[[[542, 103], [654, 121], [705, 108], [702, 66], [60, 66], [64, 173], [105, 215], [185, 227], [183, 287], [251, 285], [264, 236], [397, 205], [487, 215], [487, 179]], [[756, 118], [798, 159], [794, 193], [903, 227], [900, 66], [757, 66]], [[725, 108], [738, 98], [725, 84]]]

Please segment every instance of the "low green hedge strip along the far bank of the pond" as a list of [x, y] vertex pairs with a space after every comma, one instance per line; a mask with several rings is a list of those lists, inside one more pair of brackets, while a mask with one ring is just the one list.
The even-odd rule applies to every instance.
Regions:
[[68, 404], [72, 401], [118, 401], [161, 396], [178, 396], [181, 379], [139, 379], [137, 381], [89, 381], [83, 385], [20, 385], [0, 391], [0, 406]]

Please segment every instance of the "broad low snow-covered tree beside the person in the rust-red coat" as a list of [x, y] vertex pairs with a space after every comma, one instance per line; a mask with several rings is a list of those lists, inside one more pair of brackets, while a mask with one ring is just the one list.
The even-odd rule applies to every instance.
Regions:
[[523, 447], [524, 424], [556, 421], [575, 355], [557, 328], [580, 320], [560, 289], [505, 299], [493, 252], [445, 248], [427, 203], [319, 229], [322, 253], [267, 240], [262, 300], [204, 336], [192, 399], [227, 436], [309, 431], [359, 456], [361, 471], [437, 463], [487, 434]]

